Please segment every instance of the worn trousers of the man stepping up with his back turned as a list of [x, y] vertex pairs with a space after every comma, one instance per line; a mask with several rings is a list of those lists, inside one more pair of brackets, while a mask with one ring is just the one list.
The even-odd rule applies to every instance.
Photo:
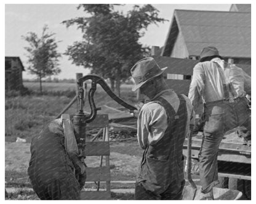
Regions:
[[209, 192], [218, 184], [218, 146], [226, 131], [238, 126], [250, 130], [250, 113], [247, 109], [246, 98], [236, 102], [210, 102], [206, 104], [206, 124], [199, 151], [199, 172], [202, 192]]

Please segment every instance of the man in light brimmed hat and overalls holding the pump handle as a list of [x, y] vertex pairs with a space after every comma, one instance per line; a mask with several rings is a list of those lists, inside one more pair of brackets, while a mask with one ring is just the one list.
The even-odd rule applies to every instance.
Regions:
[[130, 70], [132, 91], [148, 97], [138, 111], [137, 137], [144, 149], [135, 184], [136, 200], [181, 200], [185, 185], [183, 142], [194, 124], [194, 111], [185, 95], [170, 89], [154, 58], [138, 61]]

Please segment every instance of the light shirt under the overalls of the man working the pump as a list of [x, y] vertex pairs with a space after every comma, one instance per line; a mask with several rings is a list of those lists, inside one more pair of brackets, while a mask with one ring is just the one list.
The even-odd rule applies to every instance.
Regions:
[[[180, 100], [172, 89], [161, 91], [150, 102], [143, 105], [138, 115], [137, 121], [137, 138], [141, 148], [156, 144], [164, 136], [167, 129], [167, 113], [162, 105], [154, 102], [157, 97], [163, 97], [174, 108], [175, 113], [178, 111]], [[186, 123], [186, 135], [190, 133], [190, 124], [194, 124], [194, 111], [188, 97], [182, 94], [186, 100], [188, 119]]]

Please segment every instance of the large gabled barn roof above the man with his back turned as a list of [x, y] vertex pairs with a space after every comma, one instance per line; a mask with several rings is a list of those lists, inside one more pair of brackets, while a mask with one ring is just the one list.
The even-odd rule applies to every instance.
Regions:
[[244, 12], [175, 10], [162, 56], [170, 56], [178, 32], [189, 55], [214, 46], [223, 57], [250, 58], [251, 15]]

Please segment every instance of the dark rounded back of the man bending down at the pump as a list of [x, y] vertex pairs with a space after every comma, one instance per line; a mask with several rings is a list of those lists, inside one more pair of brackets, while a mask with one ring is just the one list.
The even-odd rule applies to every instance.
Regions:
[[39, 182], [48, 183], [57, 178], [65, 178], [67, 173], [72, 173], [70, 167], [73, 164], [66, 155], [64, 140], [64, 135], [52, 132], [48, 125], [39, 135], [32, 138], [28, 168], [30, 177], [36, 177]]

